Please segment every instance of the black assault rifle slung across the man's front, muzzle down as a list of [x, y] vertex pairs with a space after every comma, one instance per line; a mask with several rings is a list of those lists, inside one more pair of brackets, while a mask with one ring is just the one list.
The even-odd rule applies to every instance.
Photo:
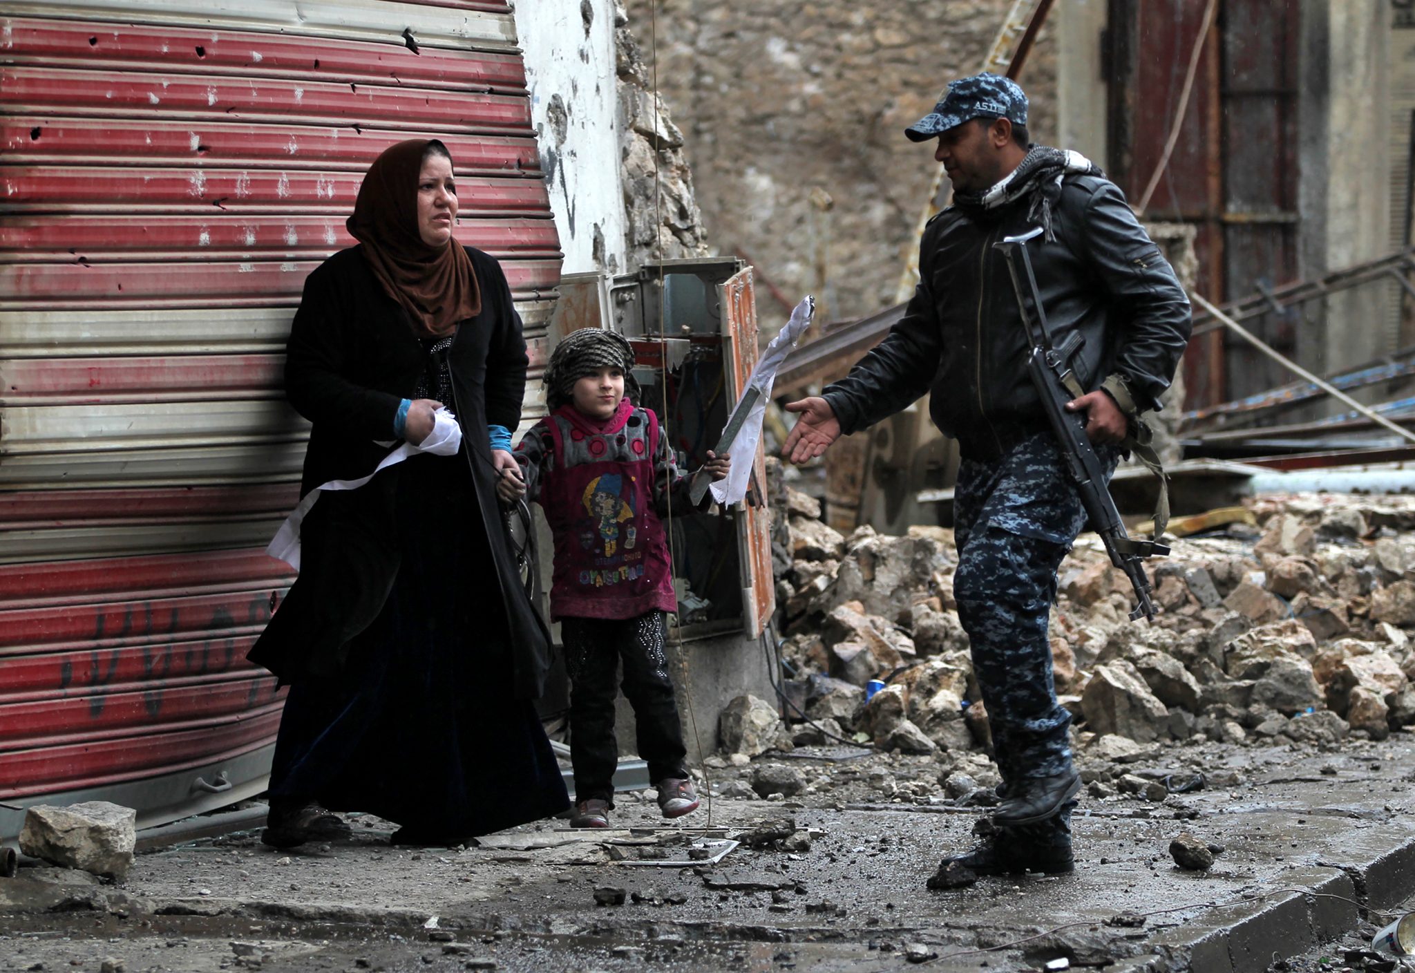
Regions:
[[1153, 540], [1135, 540], [1125, 533], [1125, 523], [1121, 520], [1111, 491], [1105, 485], [1105, 468], [1085, 434], [1085, 416], [1065, 410], [1065, 403], [1080, 399], [1085, 392], [1073, 365], [1085, 341], [1073, 331], [1060, 345], [1051, 344], [1047, 311], [1041, 305], [1041, 291], [1037, 289], [1037, 279], [1032, 273], [1032, 257], [1027, 255], [1027, 240], [1040, 233], [1041, 228], [1039, 226], [1029, 233], [1005, 236], [1000, 243], [993, 243], [1007, 260], [1012, 287], [1017, 291], [1022, 327], [1026, 328], [1027, 342], [1032, 345], [1032, 352], [1027, 355], [1027, 373], [1032, 376], [1032, 383], [1037, 386], [1041, 407], [1046, 410], [1051, 431], [1061, 445], [1061, 457], [1065, 460], [1071, 479], [1075, 481], [1081, 503], [1091, 518], [1091, 528], [1101, 535], [1111, 563], [1125, 571], [1135, 588], [1139, 605], [1131, 612], [1131, 619], [1140, 615], [1155, 618], [1155, 605], [1149, 598], [1150, 584], [1140, 561], [1146, 557], [1163, 557], [1169, 554], [1169, 547]]

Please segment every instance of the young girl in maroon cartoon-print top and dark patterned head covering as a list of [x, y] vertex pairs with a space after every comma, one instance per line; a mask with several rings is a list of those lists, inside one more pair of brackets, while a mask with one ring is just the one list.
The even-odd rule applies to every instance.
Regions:
[[[658, 417], [624, 395], [625, 383], [638, 393], [633, 366], [634, 349], [623, 335], [570, 332], [545, 371], [550, 416], [516, 445], [522, 477], [509, 468], [498, 484], [502, 499], [529, 494], [538, 501], [555, 535], [550, 618], [560, 622], [570, 673], [573, 827], [608, 827], [620, 660], [638, 752], [664, 817], [698, 808], [664, 653], [664, 612], [676, 611], [678, 600], [659, 519], [669, 506], [693, 506]], [[726, 477], [729, 458], [708, 457], [713, 479]]]

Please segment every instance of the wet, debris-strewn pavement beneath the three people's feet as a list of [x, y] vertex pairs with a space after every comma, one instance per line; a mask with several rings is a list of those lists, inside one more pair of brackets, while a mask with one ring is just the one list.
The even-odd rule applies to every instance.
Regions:
[[[927, 891], [979, 815], [944, 802], [934, 759], [795, 759], [815, 793], [717, 798], [681, 827], [664, 826], [649, 793], [624, 795], [610, 832], [543, 822], [471, 849], [395, 849], [386, 822], [355, 817], [352, 840], [290, 853], [258, 832], [140, 853], [120, 885], [25, 863], [0, 880], [0, 970], [951, 972], [1064, 957], [1224, 973], [1305, 956], [1374, 921], [1361, 907], [1415, 894], [1409, 734], [1332, 752], [1170, 747], [1157, 759], [1176, 754], [1223, 786], [1162, 803], [1084, 798], [1068, 877]], [[923, 783], [890, 798], [882, 774]], [[782, 817], [795, 850], [658, 864]], [[1207, 873], [1174, 867], [1182, 832], [1221, 846]], [[597, 904], [604, 888], [623, 904]]]

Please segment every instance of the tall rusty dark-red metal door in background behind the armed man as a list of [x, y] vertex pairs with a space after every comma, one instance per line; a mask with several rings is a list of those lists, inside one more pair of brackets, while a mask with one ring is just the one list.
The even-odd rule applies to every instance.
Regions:
[[[1196, 44], [1200, 58], [1173, 154], [1145, 209], [1197, 228], [1196, 286], [1213, 300], [1296, 277], [1298, 0], [1221, 0], [1200, 38], [1201, 0], [1112, 0], [1108, 31], [1109, 170], [1132, 204], [1159, 168]], [[1254, 331], [1292, 355], [1296, 330], [1274, 315]], [[1184, 358], [1187, 407], [1272, 388], [1285, 376], [1224, 334]]]

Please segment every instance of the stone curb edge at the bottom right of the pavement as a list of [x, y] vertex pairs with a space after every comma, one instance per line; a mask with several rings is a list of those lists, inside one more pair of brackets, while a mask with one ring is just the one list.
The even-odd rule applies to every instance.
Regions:
[[[1368, 849], [1381, 834], [1363, 836]], [[1415, 839], [1399, 834], [1394, 847], [1371, 849], [1358, 864], [1322, 864], [1285, 877], [1282, 888], [1388, 908], [1415, 894]], [[1275, 960], [1296, 956], [1356, 928], [1360, 912], [1341, 898], [1279, 891], [1264, 899], [1224, 905], [1150, 939], [1150, 952], [1107, 967], [1109, 973], [1264, 973]]]

